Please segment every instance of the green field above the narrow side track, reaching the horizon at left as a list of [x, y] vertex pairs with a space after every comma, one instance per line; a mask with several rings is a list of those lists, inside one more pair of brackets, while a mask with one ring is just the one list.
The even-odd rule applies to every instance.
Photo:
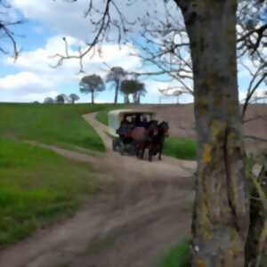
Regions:
[[101, 138], [81, 117], [113, 104], [0, 104], [0, 136], [44, 142], [69, 150], [104, 151]]

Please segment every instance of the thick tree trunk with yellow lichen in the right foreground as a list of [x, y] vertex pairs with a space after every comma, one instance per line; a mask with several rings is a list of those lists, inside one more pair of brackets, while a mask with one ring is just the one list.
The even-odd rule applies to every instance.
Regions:
[[191, 264], [244, 267], [249, 205], [237, 84], [237, 0], [175, 2], [190, 36], [198, 132]]

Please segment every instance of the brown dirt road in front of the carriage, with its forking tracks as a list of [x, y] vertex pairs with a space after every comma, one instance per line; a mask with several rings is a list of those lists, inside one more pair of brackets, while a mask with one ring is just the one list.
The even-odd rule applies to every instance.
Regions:
[[102, 157], [46, 148], [91, 162], [102, 193], [69, 221], [1, 252], [1, 267], [152, 267], [189, 234], [195, 163], [122, 157], [111, 150], [107, 127], [94, 116], [84, 118], [106, 145]]

